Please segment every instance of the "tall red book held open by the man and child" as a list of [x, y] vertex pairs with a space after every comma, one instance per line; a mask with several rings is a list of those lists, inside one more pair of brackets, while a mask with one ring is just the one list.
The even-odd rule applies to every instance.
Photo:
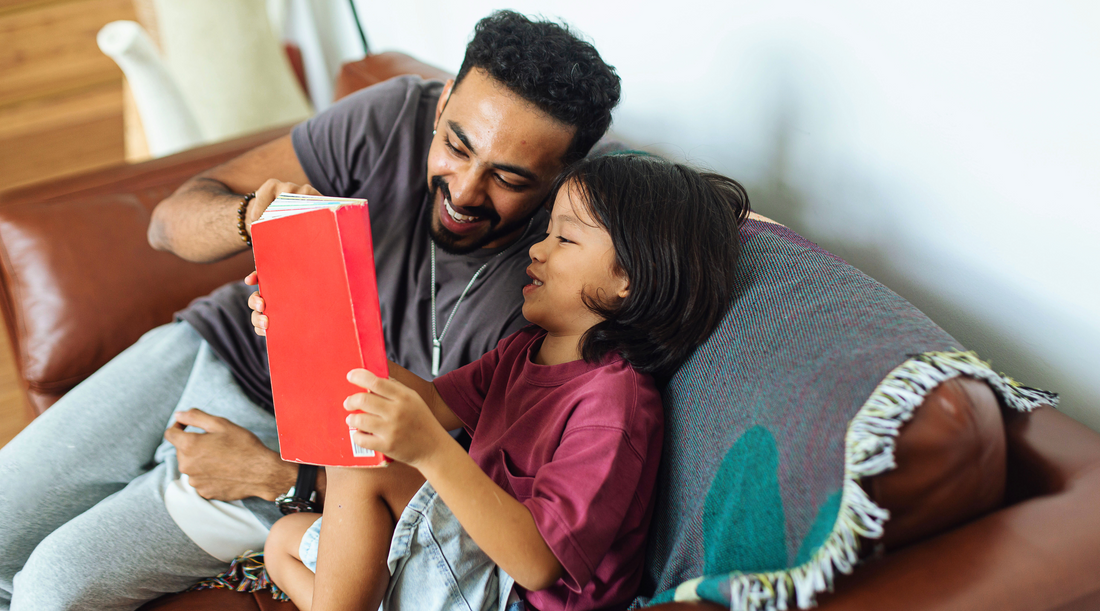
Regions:
[[389, 377], [366, 200], [280, 195], [252, 225], [252, 248], [283, 459], [386, 465], [351, 441], [343, 408], [363, 392], [349, 371]]

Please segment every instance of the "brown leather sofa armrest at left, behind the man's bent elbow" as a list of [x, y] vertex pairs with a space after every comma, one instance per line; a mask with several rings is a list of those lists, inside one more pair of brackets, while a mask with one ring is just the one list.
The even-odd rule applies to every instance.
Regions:
[[288, 131], [0, 194], [0, 307], [32, 417], [191, 299], [253, 269], [249, 252], [201, 265], [154, 251], [150, 212], [190, 176]]

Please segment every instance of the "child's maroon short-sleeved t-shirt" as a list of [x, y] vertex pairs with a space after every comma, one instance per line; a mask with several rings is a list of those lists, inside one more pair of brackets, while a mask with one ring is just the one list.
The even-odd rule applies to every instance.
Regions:
[[625, 609], [641, 580], [661, 457], [661, 397], [617, 354], [541, 365], [526, 327], [436, 389], [473, 437], [470, 457], [524, 503], [565, 575], [522, 592], [539, 611]]

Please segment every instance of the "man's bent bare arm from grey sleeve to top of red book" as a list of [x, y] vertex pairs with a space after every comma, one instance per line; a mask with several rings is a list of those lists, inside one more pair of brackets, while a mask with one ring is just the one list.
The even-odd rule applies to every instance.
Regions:
[[148, 243], [197, 263], [226, 259], [246, 248], [237, 227], [244, 194], [256, 192], [245, 214], [251, 227], [278, 193], [307, 182], [290, 137], [284, 135], [180, 185], [153, 210]]

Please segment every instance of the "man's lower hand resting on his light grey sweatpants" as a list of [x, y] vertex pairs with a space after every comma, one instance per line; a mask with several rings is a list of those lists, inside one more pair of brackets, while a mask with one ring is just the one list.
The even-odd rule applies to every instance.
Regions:
[[[206, 433], [185, 433], [187, 426]], [[187, 473], [204, 499], [238, 501], [260, 497], [274, 501], [297, 479], [298, 467], [284, 462], [258, 437], [201, 410], [178, 412], [164, 438], [176, 446], [179, 472]]]

